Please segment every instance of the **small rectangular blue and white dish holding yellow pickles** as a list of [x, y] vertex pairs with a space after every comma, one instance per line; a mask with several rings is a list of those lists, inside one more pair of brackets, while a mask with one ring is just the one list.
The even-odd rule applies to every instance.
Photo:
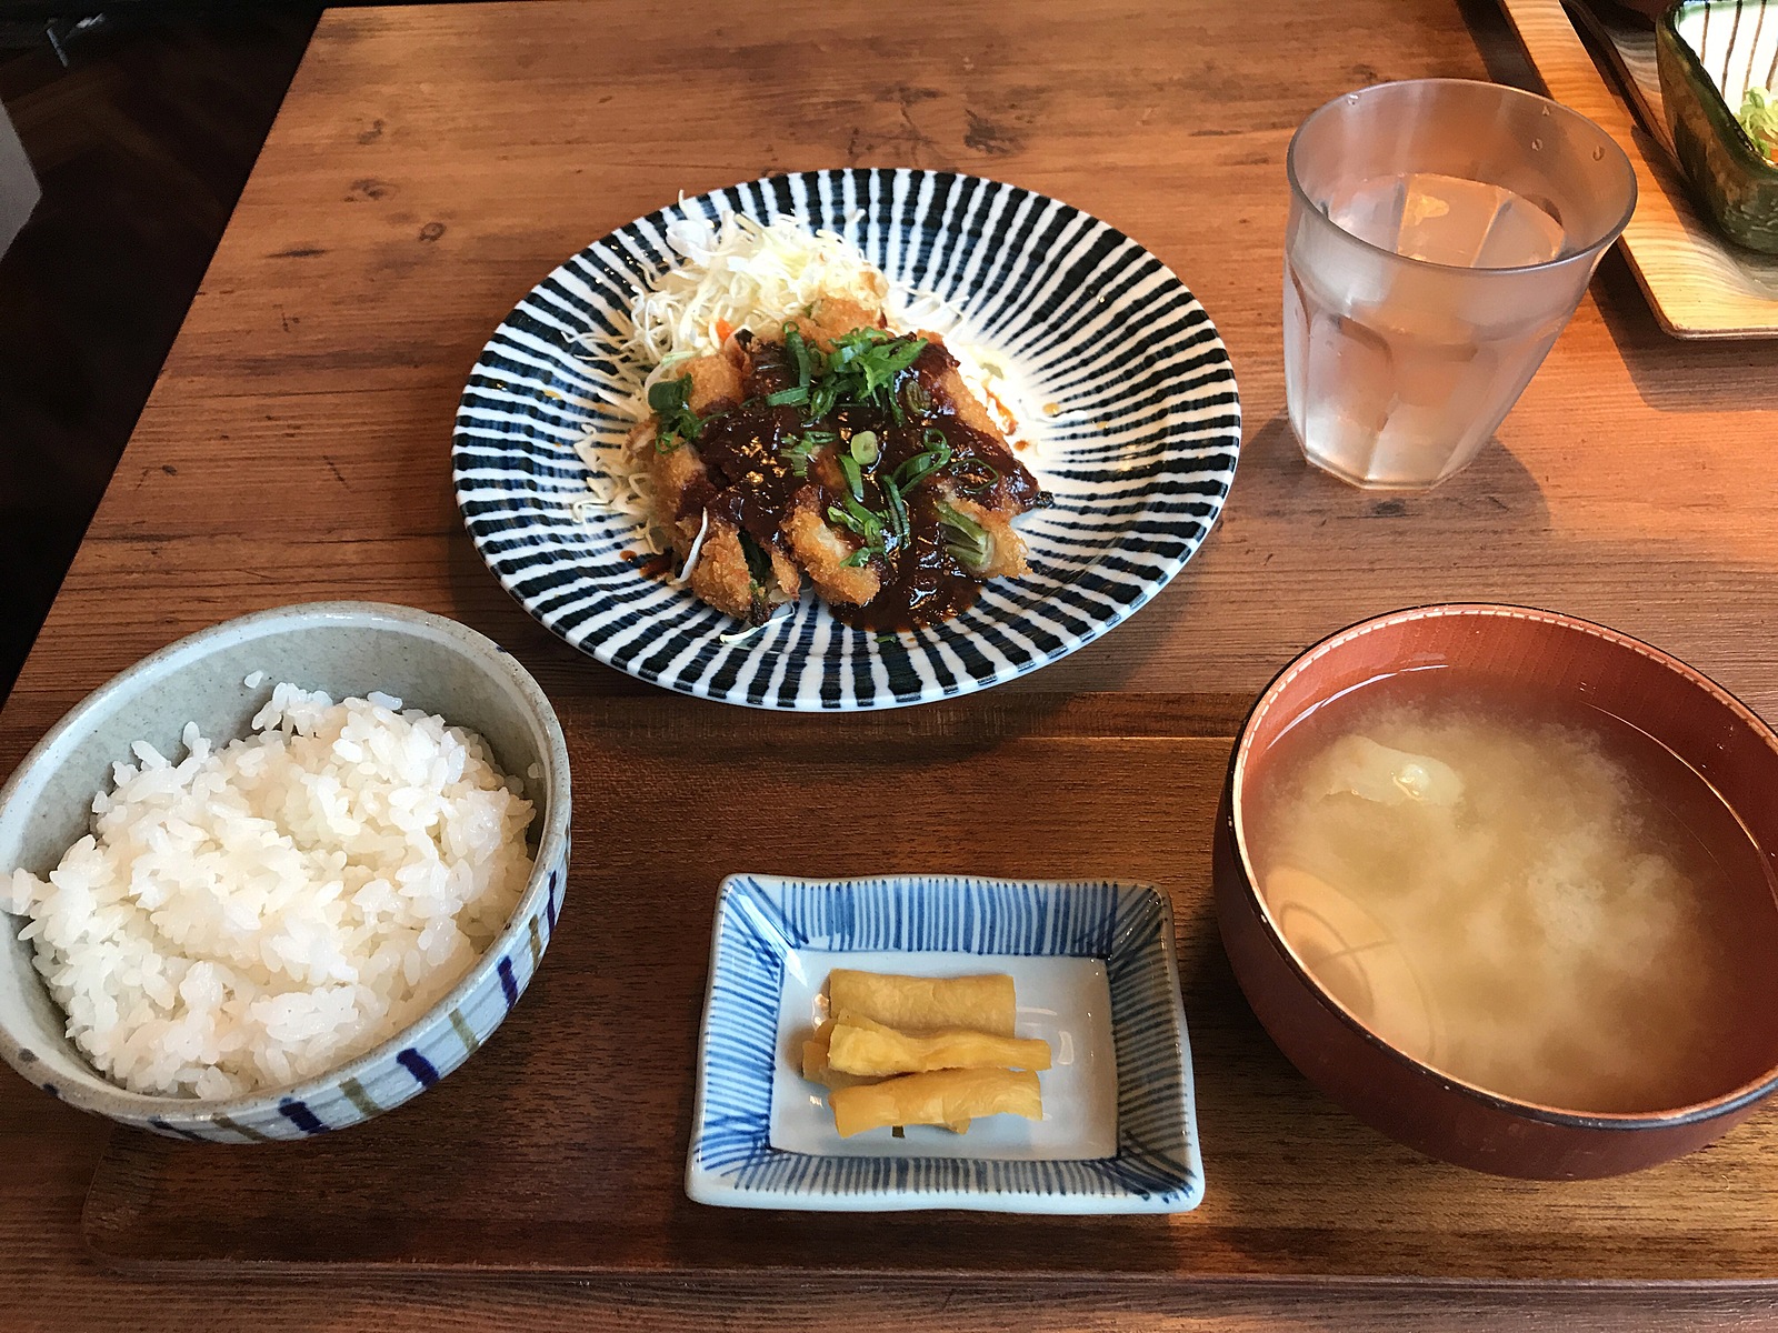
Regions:
[[[1010, 972], [1044, 1120], [841, 1139], [802, 1079], [834, 967]], [[722, 883], [685, 1173], [699, 1203], [884, 1212], [1186, 1212], [1204, 1198], [1173, 914], [1154, 889], [909, 876]]]

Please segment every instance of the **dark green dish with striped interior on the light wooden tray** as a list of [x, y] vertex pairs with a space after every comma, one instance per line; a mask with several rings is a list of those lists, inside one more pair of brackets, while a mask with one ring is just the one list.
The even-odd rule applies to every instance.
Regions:
[[1767, 76], [1774, 34], [1778, 4], [1764, 0], [1680, 0], [1655, 23], [1680, 169], [1725, 236], [1767, 254], [1778, 254], [1778, 167], [1741, 128], [1730, 98], [1739, 107], [1750, 73], [1755, 84]]

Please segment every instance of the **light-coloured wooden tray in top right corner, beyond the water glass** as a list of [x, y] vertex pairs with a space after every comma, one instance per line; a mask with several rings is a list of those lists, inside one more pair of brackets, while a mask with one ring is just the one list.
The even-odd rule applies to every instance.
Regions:
[[1639, 196], [1622, 249], [1661, 327], [1675, 338], [1778, 338], [1778, 258], [1718, 236], [1673, 164], [1654, 34], [1586, 11], [1582, 23], [1625, 87], [1625, 105], [1588, 53], [1563, 0], [1501, 0], [1501, 7], [1549, 94], [1604, 126], [1630, 156]]

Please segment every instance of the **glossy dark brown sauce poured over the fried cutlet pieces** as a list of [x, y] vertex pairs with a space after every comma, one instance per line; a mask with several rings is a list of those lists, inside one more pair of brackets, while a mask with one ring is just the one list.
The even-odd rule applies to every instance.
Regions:
[[[706, 414], [697, 451], [708, 480], [686, 487], [679, 515], [708, 510], [734, 523], [763, 549], [786, 549], [781, 526], [798, 491], [818, 487], [823, 514], [830, 507], [843, 508], [846, 478], [837, 453], [850, 451], [853, 435], [864, 430], [877, 435], [877, 460], [861, 466], [862, 503], [882, 514], [887, 508], [885, 478], [926, 451], [932, 443], [928, 432], [939, 432], [951, 448], [951, 462], [909, 492], [909, 539], [877, 560], [882, 590], [864, 606], [829, 603], [829, 610], [859, 629], [900, 631], [948, 620], [973, 606], [981, 581], [948, 549], [935, 483], [948, 480], [962, 496], [990, 510], [1024, 512], [1047, 505], [1049, 496], [1005, 444], [958, 419], [944, 384], [957, 366], [949, 352], [928, 341], [898, 377], [900, 419], [875, 405], [843, 403], [820, 421], [804, 421], [802, 407], [765, 402], [768, 395], [797, 384], [784, 347], [754, 339], [747, 350], [747, 398]], [[805, 464], [805, 475], [798, 476], [784, 460], [784, 450], [813, 430], [832, 432], [836, 439], [816, 451]]]

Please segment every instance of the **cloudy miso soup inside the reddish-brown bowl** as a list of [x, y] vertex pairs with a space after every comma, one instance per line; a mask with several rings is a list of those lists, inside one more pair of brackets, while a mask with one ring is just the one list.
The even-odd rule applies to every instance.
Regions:
[[1709, 1100], [1778, 1061], [1778, 896], [1734, 810], [1582, 698], [1405, 672], [1246, 777], [1261, 898], [1396, 1049], [1581, 1113]]

